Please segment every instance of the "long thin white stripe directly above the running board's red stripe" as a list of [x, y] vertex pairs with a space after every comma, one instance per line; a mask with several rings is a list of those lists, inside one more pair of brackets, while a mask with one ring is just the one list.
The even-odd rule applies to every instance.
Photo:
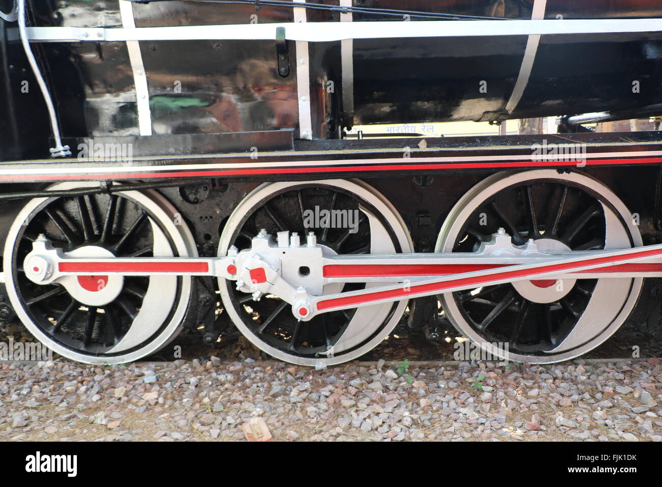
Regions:
[[[607, 158], [646, 158], [646, 157], [659, 157], [662, 158], [662, 151], [634, 151], [634, 152], [601, 152], [587, 154], [587, 162], [596, 159]], [[213, 158], [213, 156], [205, 156], [205, 158]], [[130, 172], [162, 172], [162, 171], [195, 171], [195, 170], [216, 170], [216, 169], [256, 169], [256, 168], [288, 168], [297, 166], [310, 166], [310, 167], [324, 167], [324, 166], [375, 166], [381, 164], [434, 164], [434, 163], [448, 163], [448, 162], [517, 162], [517, 161], [530, 161], [532, 156], [461, 156], [461, 157], [416, 157], [410, 159], [399, 158], [377, 158], [377, 159], [342, 159], [342, 160], [301, 160], [301, 161], [270, 161], [270, 162], [238, 162], [238, 163], [224, 163], [218, 164], [169, 164], [167, 166], [153, 165], [153, 166], [93, 166], [85, 168], [19, 168], [19, 169], [3, 169], [0, 166], [0, 176], [29, 176], [29, 175], [58, 175], [58, 174], [106, 174], [106, 173], [130, 173]], [[181, 157], [177, 158], [181, 160]], [[138, 158], [134, 158], [135, 164]], [[556, 162], [549, 159], [551, 164]], [[560, 160], [558, 162], [564, 162]], [[5, 162], [4, 164], [9, 164]], [[495, 169], [498, 169], [495, 166]]]

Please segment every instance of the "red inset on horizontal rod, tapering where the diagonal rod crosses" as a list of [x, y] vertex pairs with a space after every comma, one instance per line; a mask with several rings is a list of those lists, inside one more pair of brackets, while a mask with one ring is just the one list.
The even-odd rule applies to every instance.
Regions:
[[365, 278], [381, 276], [448, 276], [513, 264], [329, 264], [322, 268], [325, 278]]

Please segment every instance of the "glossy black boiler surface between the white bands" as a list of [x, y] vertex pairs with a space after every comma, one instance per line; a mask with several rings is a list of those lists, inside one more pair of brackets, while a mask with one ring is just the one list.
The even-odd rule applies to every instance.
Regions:
[[[5, 10], [9, 1], [2, 0]], [[31, 1], [30, 25], [120, 27], [117, 0]], [[321, 3], [338, 5], [337, 0]], [[533, 0], [355, 0], [358, 7], [530, 18]], [[158, 2], [133, 6], [138, 27], [293, 21], [286, 7]], [[653, 0], [548, 0], [545, 17], [661, 17]], [[394, 17], [355, 14], [356, 21]], [[338, 13], [308, 11], [309, 21]], [[403, 19], [404, 20], [404, 19]], [[416, 19], [412, 19], [416, 21]], [[44, 102], [18, 42], [0, 52], [0, 160], [43, 157], [50, 136]], [[355, 123], [494, 120], [616, 111], [662, 102], [662, 35], [544, 36], [528, 87], [504, 113], [520, 72], [526, 36], [355, 40]], [[136, 136], [133, 72], [124, 42], [34, 44], [65, 137]], [[310, 46], [314, 138], [338, 138], [342, 120], [340, 43]], [[295, 66], [278, 73], [275, 42], [141, 42], [155, 135], [295, 130]], [[295, 42], [287, 50], [296, 60]], [[31, 89], [21, 92], [23, 81]], [[637, 81], [639, 91], [633, 91]], [[329, 82], [334, 89], [329, 90]], [[487, 91], [481, 90], [481, 86]], [[28, 116], [29, 114], [29, 116]], [[248, 149], [248, 147], [247, 147]], [[200, 148], [201, 152], [205, 147]], [[165, 152], [171, 152], [166, 150]]]

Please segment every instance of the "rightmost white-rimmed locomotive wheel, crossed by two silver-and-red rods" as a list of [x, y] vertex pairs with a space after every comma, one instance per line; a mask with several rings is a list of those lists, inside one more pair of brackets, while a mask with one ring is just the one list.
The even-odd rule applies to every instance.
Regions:
[[[513, 245], [596, 250], [642, 244], [632, 213], [600, 182], [572, 172], [499, 173], [453, 207], [437, 252], [472, 252], [505, 229]], [[594, 349], [627, 319], [641, 278], [523, 281], [440, 296], [444, 314], [481, 348], [508, 343], [509, 358], [550, 363]]]

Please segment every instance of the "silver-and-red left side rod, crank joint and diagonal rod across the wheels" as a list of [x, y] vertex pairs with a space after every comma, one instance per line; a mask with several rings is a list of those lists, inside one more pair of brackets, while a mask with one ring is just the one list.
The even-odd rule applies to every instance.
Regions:
[[[282, 244], [281, 237], [285, 235], [279, 235], [279, 243]], [[497, 237], [510, 241], [505, 233]], [[81, 276], [106, 278], [106, 281], [99, 281], [103, 281], [104, 286], [109, 275], [170, 274], [236, 280], [238, 290], [253, 294], [256, 300], [267, 294], [283, 299], [292, 305], [293, 315], [303, 321], [329, 311], [509, 282], [662, 276], [662, 244], [624, 250], [544, 254], [536, 250], [535, 243], [530, 241], [528, 249], [526, 245], [522, 246], [522, 250], [528, 250], [528, 255], [524, 252], [491, 257], [476, 254], [472, 257], [471, 253], [322, 256], [322, 246], [314, 242], [314, 236], [309, 235], [308, 243], [301, 246], [296, 238], [296, 246], [275, 246], [269, 235], [260, 233], [254, 237], [252, 248], [242, 252], [233, 248], [227, 256], [218, 258], [71, 258], [62, 250], [52, 248], [50, 242], [40, 235], [23, 264], [26, 276], [33, 282], [57, 282], [68, 289], [77, 285], [73, 280], [76, 276], [81, 284]], [[281, 254], [285, 257], [281, 258]], [[347, 282], [349, 276], [359, 282], [390, 281], [399, 284], [320, 296], [319, 286], [316, 293], [312, 290], [315, 293], [312, 294], [310, 287], [295, 288], [283, 278], [292, 264], [297, 269], [305, 268], [317, 274], [322, 266], [322, 274], [326, 272], [323, 284]], [[478, 270], [466, 272], [477, 267]], [[102, 289], [103, 286], [99, 288]]]

